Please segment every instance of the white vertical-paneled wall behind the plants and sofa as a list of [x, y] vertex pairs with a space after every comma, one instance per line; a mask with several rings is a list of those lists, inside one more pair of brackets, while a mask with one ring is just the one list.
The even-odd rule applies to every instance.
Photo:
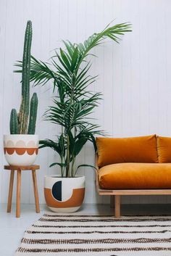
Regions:
[[[92, 86], [104, 99], [94, 113], [97, 123], [111, 136], [143, 136], [157, 133], [171, 136], [171, 1], [170, 0], [0, 0], [0, 201], [7, 202], [9, 173], [3, 170], [4, 133], [9, 133], [9, 114], [20, 106], [20, 75], [14, 62], [22, 59], [27, 20], [33, 22], [32, 54], [42, 60], [62, 45], [62, 39], [81, 42], [109, 22], [131, 22], [133, 32], [120, 45], [109, 41], [94, 50], [91, 74], [98, 75]], [[54, 138], [57, 128], [42, 120], [51, 104], [51, 85], [33, 88], [38, 92], [37, 133]], [[143, 152], [142, 152], [143, 153]], [[38, 189], [43, 203], [43, 176], [56, 173], [49, 164], [54, 152], [42, 149], [37, 163]], [[93, 147], [87, 144], [78, 162], [93, 164]], [[93, 170], [85, 168], [87, 203], [109, 202], [94, 188]], [[15, 195], [14, 195], [15, 199]], [[32, 203], [29, 172], [22, 175], [22, 202]], [[125, 197], [122, 202], [171, 202], [171, 197]]]

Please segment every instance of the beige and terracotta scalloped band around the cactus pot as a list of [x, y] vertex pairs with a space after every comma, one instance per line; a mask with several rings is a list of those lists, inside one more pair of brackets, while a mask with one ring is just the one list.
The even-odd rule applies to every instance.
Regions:
[[15, 144], [11, 140], [6, 143], [4, 141], [4, 154], [14, 154], [14, 152], [19, 155], [25, 154], [25, 152], [29, 155], [38, 154], [38, 146], [35, 144], [35, 141], [28, 141], [27, 144], [22, 140], [17, 141]]

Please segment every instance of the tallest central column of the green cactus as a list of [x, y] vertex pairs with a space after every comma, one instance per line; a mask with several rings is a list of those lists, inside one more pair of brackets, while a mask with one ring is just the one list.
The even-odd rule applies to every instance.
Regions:
[[30, 104], [30, 48], [32, 40], [32, 23], [29, 20], [25, 30], [25, 44], [22, 57], [22, 102], [20, 105], [20, 133], [28, 131], [28, 115]]

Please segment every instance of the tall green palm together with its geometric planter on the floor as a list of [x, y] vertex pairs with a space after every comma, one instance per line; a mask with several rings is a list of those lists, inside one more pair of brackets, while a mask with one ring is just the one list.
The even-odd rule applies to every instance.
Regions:
[[100, 33], [93, 33], [83, 44], [63, 41], [64, 49], [54, 51], [51, 62], [32, 58], [31, 80], [35, 85], [45, 85], [49, 80], [54, 86], [54, 102], [45, 113], [45, 119], [60, 127], [57, 139], [40, 141], [40, 148], [49, 147], [57, 152], [60, 174], [45, 176], [44, 194], [46, 203], [55, 212], [74, 212], [82, 205], [85, 192], [85, 177], [78, 176], [82, 166], [76, 158], [87, 141], [93, 142], [94, 135], [101, 133], [99, 125], [91, 120], [91, 113], [99, 104], [101, 94], [90, 90], [96, 76], [88, 75], [91, 62], [88, 57], [105, 38], [119, 42], [118, 36], [130, 31], [130, 24], [107, 26]]

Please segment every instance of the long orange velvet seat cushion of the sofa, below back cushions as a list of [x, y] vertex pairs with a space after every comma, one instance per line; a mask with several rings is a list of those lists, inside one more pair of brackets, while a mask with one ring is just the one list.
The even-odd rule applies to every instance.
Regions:
[[125, 162], [99, 169], [101, 189], [171, 189], [171, 163]]

